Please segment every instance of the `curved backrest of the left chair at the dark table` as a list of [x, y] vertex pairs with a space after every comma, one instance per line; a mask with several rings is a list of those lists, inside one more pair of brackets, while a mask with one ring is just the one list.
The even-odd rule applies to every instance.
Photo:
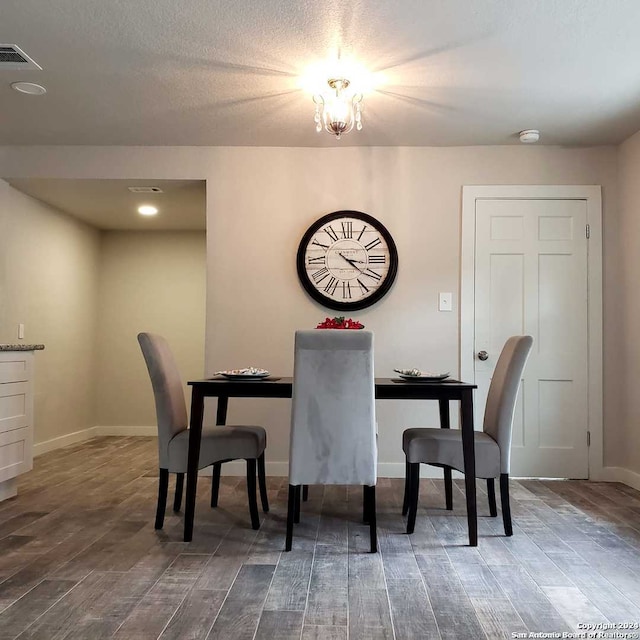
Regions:
[[153, 395], [156, 400], [158, 421], [158, 457], [161, 469], [169, 466], [169, 441], [187, 428], [187, 407], [178, 366], [169, 344], [154, 333], [139, 333]]

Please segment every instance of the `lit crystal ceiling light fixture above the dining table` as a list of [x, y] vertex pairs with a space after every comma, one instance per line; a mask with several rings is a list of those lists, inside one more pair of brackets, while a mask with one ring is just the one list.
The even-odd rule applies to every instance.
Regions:
[[346, 78], [332, 78], [327, 84], [327, 91], [313, 96], [316, 105], [316, 131], [320, 133], [324, 128], [338, 140], [343, 133], [349, 133], [354, 125], [361, 131], [362, 94], [348, 91], [351, 83]]

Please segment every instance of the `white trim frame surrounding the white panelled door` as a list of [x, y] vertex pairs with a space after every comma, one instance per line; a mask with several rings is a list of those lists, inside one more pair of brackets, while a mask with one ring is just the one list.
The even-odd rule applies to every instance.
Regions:
[[[475, 236], [476, 200], [585, 200], [590, 237], [587, 244], [587, 429], [589, 479], [603, 475], [602, 386], [602, 189], [599, 185], [486, 185], [462, 187], [460, 252], [460, 376], [475, 381]], [[476, 428], [478, 425], [476, 426]]]

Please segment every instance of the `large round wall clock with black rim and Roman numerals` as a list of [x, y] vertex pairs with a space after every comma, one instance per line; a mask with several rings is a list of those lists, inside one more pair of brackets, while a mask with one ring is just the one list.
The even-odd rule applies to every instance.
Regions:
[[297, 256], [307, 293], [330, 309], [369, 307], [391, 288], [398, 250], [387, 229], [360, 211], [335, 211], [306, 231]]

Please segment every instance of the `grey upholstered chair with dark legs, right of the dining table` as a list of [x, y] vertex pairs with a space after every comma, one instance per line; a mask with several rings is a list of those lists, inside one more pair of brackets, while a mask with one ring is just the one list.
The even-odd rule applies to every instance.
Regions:
[[[533, 338], [512, 336], [505, 343], [493, 372], [482, 431], [474, 432], [476, 477], [486, 478], [489, 512], [497, 516], [494, 479], [500, 477], [500, 502], [504, 532], [513, 535], [509, 506], [509, 469], [511, 462], [511, 429], [518, 387], [529, 357]], [[418, 510], [420, 463], [445, 469], [447, 509], [452, 509], [451, 469], [464, 472], [462, 437], [459, 429], [417, 427], [402, 434], [406, 459], [404, 504], [402, 514], [409, 512], [407, 533], [413, 533]]]

